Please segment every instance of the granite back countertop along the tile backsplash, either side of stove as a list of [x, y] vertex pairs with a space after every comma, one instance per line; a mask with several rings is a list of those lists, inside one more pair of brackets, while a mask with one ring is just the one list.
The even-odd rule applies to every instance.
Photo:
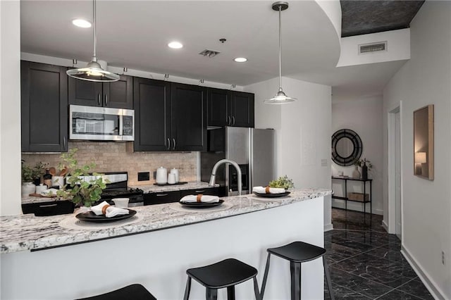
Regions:
[[[133, 189], [142, 189], [145, 193], [156, 193], [156, 192], [172, 192], [181, 191], [183, 189], [205, 189], [209, 187], [208, 182], [188, 182], [185, 185], [130, 185]], [[22, 196], [22, 204], [32, 204], [32, 203], [42, 203], [49, 201], [62, 201], [59, 197], [38, 197], [38, 196]]]

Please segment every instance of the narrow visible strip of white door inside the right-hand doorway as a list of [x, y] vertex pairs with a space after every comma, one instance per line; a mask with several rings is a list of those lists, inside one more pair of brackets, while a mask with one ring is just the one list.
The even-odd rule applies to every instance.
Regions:
[[395, 113], [395, 232], [401, 239], [401, 129], [400, 112]]

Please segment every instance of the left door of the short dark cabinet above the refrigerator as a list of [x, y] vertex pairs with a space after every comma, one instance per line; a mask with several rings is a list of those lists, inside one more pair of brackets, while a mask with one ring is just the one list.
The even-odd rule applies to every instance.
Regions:
[[209, 89], [208, 99], [208, 125], [230, 125], [231, 119], [228, 110], [230, 92], [226, 89]]

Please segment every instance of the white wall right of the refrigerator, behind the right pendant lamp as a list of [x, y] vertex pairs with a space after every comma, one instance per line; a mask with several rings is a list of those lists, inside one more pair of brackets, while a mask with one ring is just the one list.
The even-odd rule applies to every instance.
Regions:
[[[330, 187], [330, 87], [283, 77], [282, 86], [295, 103], [264, 104], [278, 91], [278, 78], [244, 87], [255, 94], [255, 127], [276, 130], [277, 174], [288, 175], [297, 188]], [[330, 196], [325, 197], [325, 230]]]

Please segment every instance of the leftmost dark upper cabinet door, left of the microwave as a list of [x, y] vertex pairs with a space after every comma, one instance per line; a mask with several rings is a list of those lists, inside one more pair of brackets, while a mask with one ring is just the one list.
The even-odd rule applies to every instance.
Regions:
[[68, 151], [67, 68], [21, 61], [22, 151]]

